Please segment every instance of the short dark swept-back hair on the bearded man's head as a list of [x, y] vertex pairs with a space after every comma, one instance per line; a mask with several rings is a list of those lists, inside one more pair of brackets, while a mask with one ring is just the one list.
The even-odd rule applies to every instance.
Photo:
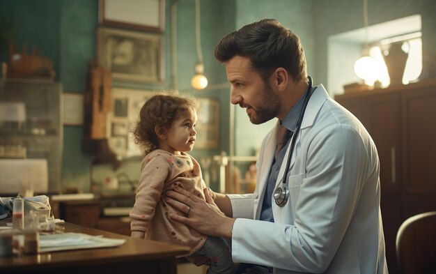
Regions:
[[306, 57], [298, 36], [274, 19], [242, 26], [215, 47], [215, 59], [221, 63], [236, 55], [249, 57], [264, 81], [277, 68], [285, 68], [296, 82], [307, 78]]

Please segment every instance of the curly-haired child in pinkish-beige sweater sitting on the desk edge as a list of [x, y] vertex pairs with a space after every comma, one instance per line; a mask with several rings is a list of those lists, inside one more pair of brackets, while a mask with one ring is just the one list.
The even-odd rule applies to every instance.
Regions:
[[130, 229], [134, 238], [189, 246], [188, 256], [203, 255], [212, 261], [208, 273], [231, 273], [233, 261], [224, 238], [206, 236], [171, 221], [169, 214], [178, 210], [164, 198], [166, 190], [178, 185], [205, 199], [200, 166], [186, 153], [192, 151], [196, 139], [196, 106], [193, 99], [166, 94], [153, 96], [141, 108], [134, 137], [145, 157], [130, 211]]

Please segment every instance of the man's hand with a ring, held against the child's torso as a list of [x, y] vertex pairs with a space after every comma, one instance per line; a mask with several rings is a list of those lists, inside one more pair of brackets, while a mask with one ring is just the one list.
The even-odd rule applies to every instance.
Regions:
[[166, 202], [186, 213], [185, 215], [171, 213], [171, 219], [187, 224], [206, 235], [231, 238], [231, 227], [235, 220], [219, 213], [208, 189], [205, 189], [204, 193], [206, 201], [178, 186], [168, 190]]

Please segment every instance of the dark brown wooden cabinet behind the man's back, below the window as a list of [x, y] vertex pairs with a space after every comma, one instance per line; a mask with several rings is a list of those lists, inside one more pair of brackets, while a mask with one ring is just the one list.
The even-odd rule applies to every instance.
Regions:
[[436, 79], [336, 96], [373, 137], [389, 273], [397, 273], [401, 222], [436, 210]]

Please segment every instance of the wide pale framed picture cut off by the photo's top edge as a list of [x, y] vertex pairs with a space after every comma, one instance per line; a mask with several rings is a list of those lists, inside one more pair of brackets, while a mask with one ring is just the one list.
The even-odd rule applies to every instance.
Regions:
[[165, 0], [100, 0], [99, 21], [127, 29], [164, 31]]

